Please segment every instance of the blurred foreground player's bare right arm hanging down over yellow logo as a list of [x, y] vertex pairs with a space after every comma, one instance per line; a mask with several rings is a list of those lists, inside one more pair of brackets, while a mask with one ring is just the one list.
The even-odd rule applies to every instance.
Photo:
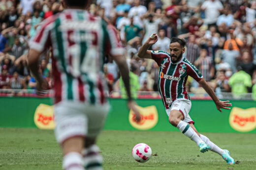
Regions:
[[118, 68], [120, 70], [120, 73], [122, 75], [123, 82], [126, 87], [127, 96], [128, 96], [128, 107], [131, 109], [135, 114], [135, 121], [139, 122], [141, 120], [141, 115], [136, 108], [136, 102], [133, 101], [130, 94], [130, 82], [129, 82], [129, 69], [126, 62], [126, 59], [122, 55], [113, 55], [113, 59], [118, 65]]

